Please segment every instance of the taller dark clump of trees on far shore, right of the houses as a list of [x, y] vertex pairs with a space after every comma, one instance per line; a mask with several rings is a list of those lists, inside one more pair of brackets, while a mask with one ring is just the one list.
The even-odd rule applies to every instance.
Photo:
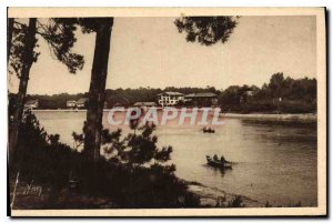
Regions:
[[219, 95], [224, 112], [313, 113], [316, 112], [316, 79], [284, 78], [274, 73], [262, 88], [232, 85]]

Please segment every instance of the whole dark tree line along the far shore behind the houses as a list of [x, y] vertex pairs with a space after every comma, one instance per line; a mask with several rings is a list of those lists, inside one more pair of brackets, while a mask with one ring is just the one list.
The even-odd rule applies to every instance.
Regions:
[[[183, 94], [211, 92], [219, 99], [219, 105], [223, 112], [263, 112], [263, 113], [309, 113], [316, 111], [316, 80], [284, 78], [283, 73], [275, 73], [269, 83], [262, 88], [255, 85], [231, 85], [225, 90], [206, 88], [175, 88], [165, 89], [139, 88], [139, 89], [107, 89], [107, 108], [113, 105], [130, 107], [139, 101], [158, 100], [158, 94], [165, 91], [175, 91]], [[10, 100], [16, 95], [10, 94]], [[67, 101], [88, 98], [88, 92], [78, 94], [53, 95], [27, 95], [27, 100], [38, 99], [39, 109], [65, 109]]]

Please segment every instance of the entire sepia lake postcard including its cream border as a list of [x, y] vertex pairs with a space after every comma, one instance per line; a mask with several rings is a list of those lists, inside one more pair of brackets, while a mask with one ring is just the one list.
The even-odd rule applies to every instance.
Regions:
[[10, 215], [326, 215], [325, 13], [8, 8]]

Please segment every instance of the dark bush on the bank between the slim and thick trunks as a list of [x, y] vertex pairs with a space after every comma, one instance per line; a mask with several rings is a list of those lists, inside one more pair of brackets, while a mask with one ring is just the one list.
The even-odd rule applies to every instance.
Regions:
[[48, 134], [30, 111], [20, 125], [14, 168], [24, 179], [50, 184], [57, 189], [67, 185], [70, 172], [80, 154], [60, 143], [59, 134]]

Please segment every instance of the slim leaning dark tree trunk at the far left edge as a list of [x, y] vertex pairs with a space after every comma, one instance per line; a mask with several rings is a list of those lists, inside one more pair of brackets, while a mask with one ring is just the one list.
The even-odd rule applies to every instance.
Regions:
[[14, 158], [14, 150], [18, 142], [19, 126], [22, 120], [23, 109], [24, 109], [24, 99], [27, 94], [27, 87], [29, 81], [30, 68], [33, 63], [33, 48], [36, 44], [36, 23], [37, 19], [29, 19], [28, 32], [24, 38], [24, 52], [22, 58], [22, 70], [20, 75], [20, 85], [18, 98], [16, 102], [14, 113], [13, 113], [13, 123], [10, 125], [9, 133], [9, 165], [12, 164], [12, 160]]

